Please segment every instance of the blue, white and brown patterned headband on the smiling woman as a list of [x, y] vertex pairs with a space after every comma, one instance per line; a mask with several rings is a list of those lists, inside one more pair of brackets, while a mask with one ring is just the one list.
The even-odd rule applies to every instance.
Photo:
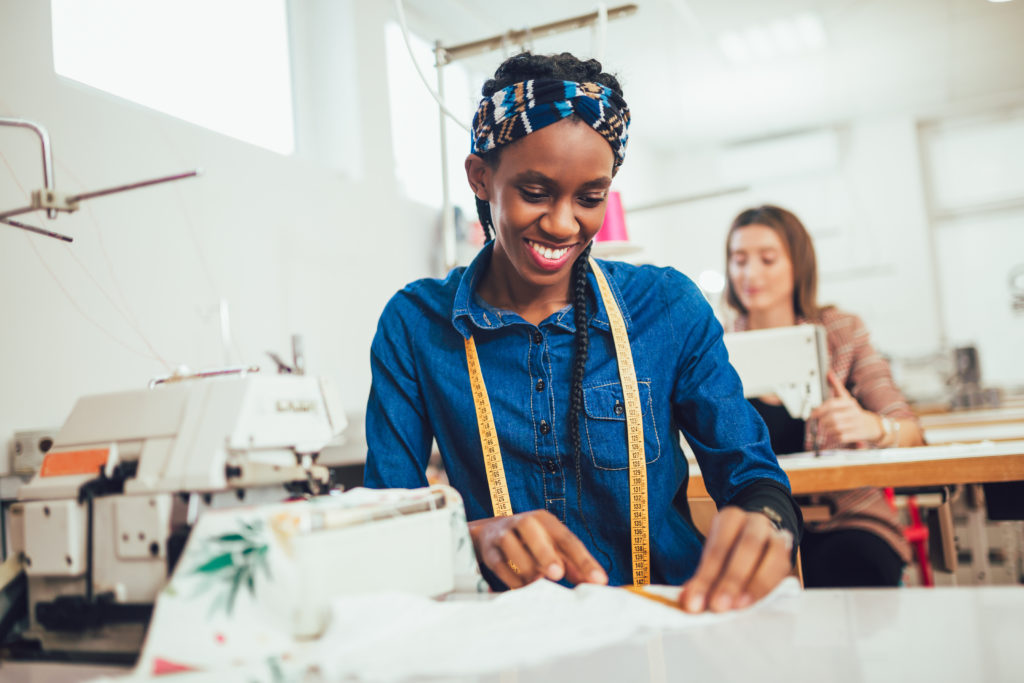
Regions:
[[573, 114], [608, 141], [617, 171], [626, 158], [630, 110], [622, 95], [599, 83], [536, 79], [502, 88], [480, 100], [469, 151], [490, 152]]

